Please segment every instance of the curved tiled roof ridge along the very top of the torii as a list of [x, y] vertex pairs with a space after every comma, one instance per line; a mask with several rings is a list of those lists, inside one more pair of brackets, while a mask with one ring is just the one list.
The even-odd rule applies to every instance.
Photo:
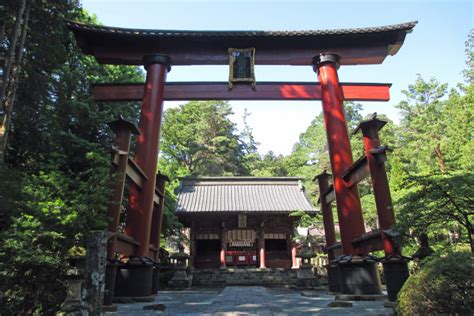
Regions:
[[379, 33], [411, 30], [415, 27], [418, 21], [411, 21], [400, 24], [391, 24], [385, 26], [375, 27], [359, 27], [349, 29], [325, 29], [325, 30], [280, 30], [280, 31], [256, 31], [256, 30], [155, 30], [155, 29], [133, 29], [103, 26], [95, 24], [86, 24], [82, 22], [65, 20], [66, 25], [72, 30], [88, 30], [100, 33], [109, 34], [126, 34], [126, 35], [144, 35], [144, 36], [324, 36], [324, 35], [344, 35], [344, 34], [360, 34], [360, 33]]

